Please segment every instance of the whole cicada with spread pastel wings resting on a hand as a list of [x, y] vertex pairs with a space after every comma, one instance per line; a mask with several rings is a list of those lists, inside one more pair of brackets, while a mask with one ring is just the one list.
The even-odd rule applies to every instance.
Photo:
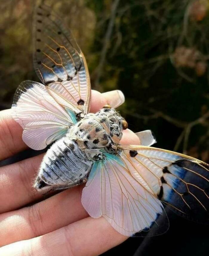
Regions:
[[91, 86], [85, 57], [61, 20], [37, 7], [34, 66], [42, 83], [22, 82], [13, 118], [32, 149], [51, 145], [34, 184], [61, 190], [81, 183], [82, 205], [93, 218], [104, 216], [119, 233], [147, 231], [163, 216], [162, 203], [176, 213], [208, 222], [209, 165], [192, 157], [141, 145], [120, 144], [125, 119], [110, 106], [89, 113]]

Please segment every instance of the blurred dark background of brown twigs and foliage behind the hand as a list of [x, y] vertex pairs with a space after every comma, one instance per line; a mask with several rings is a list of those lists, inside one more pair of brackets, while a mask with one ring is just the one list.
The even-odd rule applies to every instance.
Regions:
[[[151, 129], [156, 147], [209, 162], [209, 0], [56, 0], [84, 52], [92, 88], [122, 90], [120, 112], [133, 131]], [[0, 109], [23, 80], [38, 81], [32, 59], [34, 1], [0, 0]], [[208, 227], [168, 212], [170, 230], [130, 238], [104, 255], [208, 255]], [[169, 248], [167, 250], [166, 248]]]

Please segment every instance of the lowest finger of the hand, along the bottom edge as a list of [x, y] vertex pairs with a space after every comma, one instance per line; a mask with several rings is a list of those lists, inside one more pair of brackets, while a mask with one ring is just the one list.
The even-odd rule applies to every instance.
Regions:
[[93, 256], [100, 255], [126, 239], [103, 217], [88, 217], [49, 234], [3, 246], [0, 255]]

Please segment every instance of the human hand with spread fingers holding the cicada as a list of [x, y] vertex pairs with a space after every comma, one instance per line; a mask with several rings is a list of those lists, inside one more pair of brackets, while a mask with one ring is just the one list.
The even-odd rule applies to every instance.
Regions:
[[[92, 90], [90, 112], [123, 101], [118, 91], [101, 94]], [[127, 129], [121, 144], [139, 144], [139, 138]], [[0, 111], [0, 160], [25, 149], [22, 128], [12, 119], [11, 109]], [[93, 256], [127, 239], [105, 218], [87, 214], [81, 204], [84, 185], [44, 200], [32, 186], [42, 158], [40, 154], [0, 167], [0, 255]]]

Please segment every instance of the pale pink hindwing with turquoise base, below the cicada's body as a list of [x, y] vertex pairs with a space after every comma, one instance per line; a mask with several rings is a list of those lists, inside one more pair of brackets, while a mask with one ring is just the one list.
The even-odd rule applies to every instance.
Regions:
[[90, 216], [104, 216], [125, 236], [148, 230], [163, 214], [161, 202], [131, 176], [119, 156], [109, 153], [94, 163], [82, 204]]

